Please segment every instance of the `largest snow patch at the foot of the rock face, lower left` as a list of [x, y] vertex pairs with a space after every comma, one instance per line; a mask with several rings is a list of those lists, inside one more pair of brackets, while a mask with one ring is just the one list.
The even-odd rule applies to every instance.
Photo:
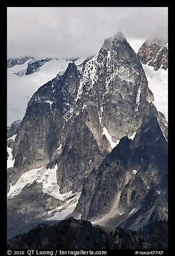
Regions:
[[[10, 152], [10, 150], [8, 152]], [[13, 162], [11, 161], [12, 155], [10, 155], [9, 158], [9, 167], [11, 167], [13, 166]], [[57, 200], [63, 201], [61, 207], [57, 207], [48, 212], [48, 216], [50, 217], [48, 217], [47, 220], [62, 220], [68, 217], [76, 208], [81, 192], [73, 193], [71, 190], [68, 193], [61, 194], [60, 187], [57, 184], [56, 169], [57, 165], [53, 169], [47, 169], [43, 166], [24, 173], [16, 184], [10, 187], [8, 198], [10, 199], [19, 195], [25, 187], [31, 186], [34, 182], [42, 183], [43, 194], [47, 194]]]

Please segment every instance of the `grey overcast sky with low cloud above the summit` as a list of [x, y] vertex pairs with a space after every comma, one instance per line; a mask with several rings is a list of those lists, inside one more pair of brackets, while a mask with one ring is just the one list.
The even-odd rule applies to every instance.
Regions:
[[78, 57], [98, 53], [122, 31], [138, 42], [167, 35], [167, 7], [8, 7], [8, 58]]

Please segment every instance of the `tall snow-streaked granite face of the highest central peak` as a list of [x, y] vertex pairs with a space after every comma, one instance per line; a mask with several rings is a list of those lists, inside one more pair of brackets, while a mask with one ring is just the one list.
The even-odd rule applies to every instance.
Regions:
[[[82, 132], [74, 127], [78, 122], [88, 126], [93, 144], [105, 156], [111, 151], [105, 131], [113, 143], [132, 135], [140, 127], [151, 97], [140, 61], [118, 33], [113, 40], [105, 41], [97, 56], [78, 67], [69, 63], [63, 75], [33, 95], [14, 143], [14, 169], [25, 172], [60, 159], [68, 134]], [[88, 138], [84, 137], [85, 141]], [[58, 153], [60, 145], [62, 151]], [[99, 164], [100, 154], [94, 161]]]

